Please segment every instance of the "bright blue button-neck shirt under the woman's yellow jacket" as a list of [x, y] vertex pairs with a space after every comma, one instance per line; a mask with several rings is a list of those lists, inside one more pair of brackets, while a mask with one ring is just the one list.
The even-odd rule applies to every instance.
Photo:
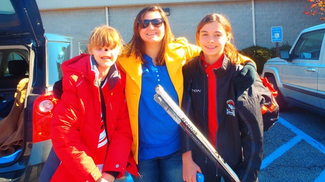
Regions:
[[154, 66], [144, 55], [139, 103], [139, 155], [140, 161], [170, 155], [180, 149], [180, 130], [177, 123], [153, 100], [155, 87], [160, 84], [178, 103], [175, 87], [166, 65]]

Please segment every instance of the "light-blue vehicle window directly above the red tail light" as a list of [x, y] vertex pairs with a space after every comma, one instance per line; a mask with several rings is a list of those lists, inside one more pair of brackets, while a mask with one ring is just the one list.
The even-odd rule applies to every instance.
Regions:
[[55, 81], [63, 76], [61, 64], [71, 58], [71, 44], [69, 42], [48, 42], [48, 85], [54, 84]]

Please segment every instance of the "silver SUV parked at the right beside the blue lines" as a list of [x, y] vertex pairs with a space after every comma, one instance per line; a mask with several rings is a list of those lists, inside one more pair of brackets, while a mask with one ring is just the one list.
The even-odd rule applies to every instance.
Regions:
[[290, 51], [264, 65], [281, 110], [290, 104], [325, 113], [325, 24], [301, 31]]

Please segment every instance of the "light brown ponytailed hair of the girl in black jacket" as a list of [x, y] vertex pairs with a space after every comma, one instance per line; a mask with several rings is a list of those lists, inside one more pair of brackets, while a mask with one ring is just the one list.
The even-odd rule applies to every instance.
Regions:
[[198, 27], [197, 27], [197, 32], [196, 32], [196, 41], [197, 44], [199, 45], [199, 41], [200, 41], [200, 30], [202, 29], [202, 27], [208, 23], [212, 23], [212, 22], [218, 22], [224, 29], [224, 31], [226, 32], [226, 36], [230, 37], [230, 42], [226, 43], [224, 45], [224, 50], [223, 53], [224, 55], [226, 55], [232, 64], [239, 64], [240, 60], [238, 57], [238, 50], [236, 49], [235, 45], [232, 43], [232, 39], [234, 39], [233, 37], [233, 30], [232, 30], [232, 26], [229, 22], [229, 20], [221, 14], [217, 14], [217, 13], [211, 13], [206, 15], [199, 23]]

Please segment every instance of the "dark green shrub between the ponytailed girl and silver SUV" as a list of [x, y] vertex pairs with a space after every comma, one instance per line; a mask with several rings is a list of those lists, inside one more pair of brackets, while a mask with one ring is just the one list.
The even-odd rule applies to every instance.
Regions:
[[256, 71], [258, 74], [262, 74], [266, 61], [275, 57], [269, 48], [261, 47], [258, 45], [252, 45], [251, 47], [239, 51], [239, 53], [251, 58], [256, 63]]

